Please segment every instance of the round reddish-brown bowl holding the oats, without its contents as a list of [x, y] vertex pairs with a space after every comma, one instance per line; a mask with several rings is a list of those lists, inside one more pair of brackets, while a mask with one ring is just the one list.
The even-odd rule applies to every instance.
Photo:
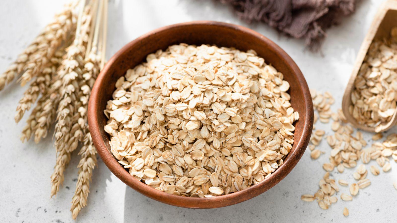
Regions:
[[[172, 44], [216, 44], [239, 50], [255, 50], [271, 63], [290, 84], [291, 104], [299, 112], [295, 125], [294, 144], [291, 152], [270, 177], [245, 190], [215, 198], [190, 198], [167, 194], [151, 188], [133, 178], [110, 152], [109, 135], [104, 131], [107, 118], [106, 102], [112, 98], [116, 80], [146, 60], [146, 56], [158, 49], [165, 50]], [[306, 81], [295, 62], [278, 45], [268, 38], [238, 25], [214, 21], [179, 23], [156, 29], [125, 45], [109, 61], [99, 74], [92, 90], [88, 111], [89, 127], [94, 145], [104, 163], [126, 185], [154, 200], [185, 208], [220, 208], [243, 202], [281, 181], [298, 163], [308, 145], [313, 126], [313, 105]], [[292, 188], [291, 188], [292, 189]]]

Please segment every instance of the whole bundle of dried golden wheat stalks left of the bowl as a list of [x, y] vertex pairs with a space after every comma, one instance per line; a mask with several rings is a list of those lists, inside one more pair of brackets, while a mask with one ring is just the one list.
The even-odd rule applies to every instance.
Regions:
[[[0, 90], [19, 76], [29, 88], [17, 105], [15, 121], [33, 108], [21, 140], [39, 143], [55, 126], [56, 164], [51, 175], [51, 196], [64, 181], [73, 150], [81, 145], [79, 175], [71, 212], [76, 219], [87, 205], [96, 165], [87, 123], [88, 100], [105, 62], [108, 0], [79, 0], [66, 5], [54, 22], [0, 75]], [[37, 103], [35, 106], [34, 104]]]

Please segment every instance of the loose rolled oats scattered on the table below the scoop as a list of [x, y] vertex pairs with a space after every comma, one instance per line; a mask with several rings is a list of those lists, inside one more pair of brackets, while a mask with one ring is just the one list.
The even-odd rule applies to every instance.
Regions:
[[[392, 133], [388, 135], [383, 142], [375, 141], [370, 148], [365, 148], [367, 142], [363, 139], [362, 133], [356, 131], [354, 134], [355, 129], [347, 124], [342, 111], [339, 109], [337, 113], [331, 112], [330, 105], [333, 103], [333, 100], [329, 100], [329, 98], [332, 98], [332, 96], [324, 97], [323, 94], [315, 90], [310, 90], [310, 92], [312, 94], [314, 109], [319, 113], [327, 111], [333, 119], [331, 129], [334, 131], [334, 134], [326, 136], [328, 145], [331, 148], [329, 156], [330, 162], [322, 165], [326, 174], [323, 179], [320, 180], [318, 191], [314, 195], [304, 194], [301, 196], [301, 199], [307, 202], [316, 200], [320, 208], [327, 210], [331, 204], [337, 202], [337, 196], [335, 195], [339, 192], [335, 180], [330, 179], [330, 173], [335, 170], [335, 167], [339, 173], [343, 173], [345, 168], [354, 168], [357, 166], [357, 162], [361, 160], [362, 164], [358, 165], [356, 171], [353, 173], [353, 178], [356, 182], [350, 183], [349, 185], [349, 182], [343, 179], [339, 179], [338, 181], [341, 186], [349, 186], [346, 192], [340, 194], [341, 200], [353, 200], [353, 196], [356, 196], [360, 190], [371, 184], [371, 181], [366, 178], [368, 174], [366, 164], [374, 160], [378, 163], [378, 166], [383, 172], [387, 172], [391, 169], [389, 163], [390, 158], [397, 161], [397, 134]], [[325, 119], [323, 122], [328, 123]], [[315, 136], [312, 135], [312, 138], [318, 137], [316, 131], [314, 131], [313, 134]], [[321, 132], [320, 135], [323, 136], [324, 134]], [[372, 140], [380, 140], [382, 138], [382, 133], [376, 133], [372, 136]], [[310, 154], [312, 158], [313, 152], [316, 150], [317, 149], [312, 150]], [[370, 172], [374, 176], [380, 174], [380, 170], [376, 165], [370, 166]], [[397, 183], [394, 183], [393, 186], [397, 189]], [[343, 210], [343, 215], [349, 215], [349, 210], [347, 210], [347, 208]]]

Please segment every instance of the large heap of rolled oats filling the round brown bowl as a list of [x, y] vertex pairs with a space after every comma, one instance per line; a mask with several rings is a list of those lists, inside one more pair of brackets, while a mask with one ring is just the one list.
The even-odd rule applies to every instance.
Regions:
[[289, 154], [289, 83], [254, 50], [179, 44], [116, 83], [105, 114], [113, 155], [169, 194], [213, 197], [269, 177]]

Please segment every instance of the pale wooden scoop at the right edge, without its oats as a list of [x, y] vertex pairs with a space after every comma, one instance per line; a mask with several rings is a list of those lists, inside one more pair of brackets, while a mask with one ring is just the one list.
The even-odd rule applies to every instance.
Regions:
[[366, 125], [360, 125], [356, 119], [349, 113], [349, 106], [351, 102], [351, 92], [354, 90], [354, 81], [357, 77], [358, 71], [360, 70], [361, 64], [364, 61], [365, 55], [367, 54], [368, 48], [370, 47], [372, 40], [382, 39], [384, 37], [390, 37], [390, 31], [393, 27], [397, 27], [397, 0], [388, 0], [380, 6], [378, 12], [375, 15], [374, 21], [372, 21], [370, 30], [368, 31], [364, 41], [361, 44], [360, 50], [357, 54], [357, 59], [353, 67], [353, 72], [345, 93], [343, 94], [342, 100], [342, 111], [347, 121], [349, 121], [356, 128], [362, 129], [368, 132], [383, 132], [393, 127], [397, 122], [397, 110], [391, 117], [391, 120], [377, 127], [375, 131], [374, 127], [368, 127]]

